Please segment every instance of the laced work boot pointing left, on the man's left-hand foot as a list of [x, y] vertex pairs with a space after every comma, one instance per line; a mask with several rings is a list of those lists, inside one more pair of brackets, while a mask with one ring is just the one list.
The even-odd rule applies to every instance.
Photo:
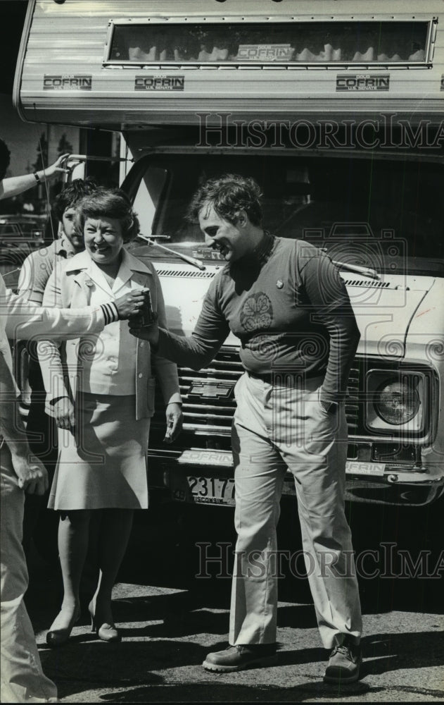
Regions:
[[227, 673], [231, 670], [243, 670], [251, 666], [274, 666], [277, 663], [276, 644], [237, 644], [227, 646], [223, 651], [213, 651], [203, 662], [206, 670]]

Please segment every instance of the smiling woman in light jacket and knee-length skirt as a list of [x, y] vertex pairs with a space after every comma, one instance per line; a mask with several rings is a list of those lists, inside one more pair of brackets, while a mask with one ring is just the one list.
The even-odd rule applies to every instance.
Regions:
[[[85, 250], [62, 272], [53, 272], [44, 304], [106, 305], [117, 295], [148, 288], [153, 309], [165, 325], [156, 271], [123, 247], [139, 232], [125, 193], [98, 188], [84, 197], [77, 205], [76, 228], [84, 235]], [[46, 406], [56, 418], [60, 448], [49, 508], [61, 513], [58, 548], [64, 596], [46, 637], [49, 646], [67, 641], [80, 614], [80, 577], [93, 526], [99, 528], [100, 577], [89, 605], [91, 620], [100, 639], [120, 639], [111, 591], [127, 548], [133, 510], [148, 507], [146, 452], [155, 386], [151, 364], [158, 371], [171, 439], [181, 426], [175, 364], [151, 356], [147, 346], [139, 347], [127, 325], [116, 321], [99, 336], [66, 343], [63, 355], [53, 341], [39, 350]], [[69, 384], [63, 375], [65, 363], [74, 373]]]

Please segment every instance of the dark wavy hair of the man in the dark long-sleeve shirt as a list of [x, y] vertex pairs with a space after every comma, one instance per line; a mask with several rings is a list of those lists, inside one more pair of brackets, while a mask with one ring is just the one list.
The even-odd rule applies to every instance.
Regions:
[[239, 211], [245, 211], [250, 223], [260, 226], [262, 222], [262, 193], [258, 183], [249, 176], [224, 174], [211, 178], [201, 185], [189, 204], [186, 218], [196, 223], [203, 208], [213, 206], [220, 218], [236, 223]]

